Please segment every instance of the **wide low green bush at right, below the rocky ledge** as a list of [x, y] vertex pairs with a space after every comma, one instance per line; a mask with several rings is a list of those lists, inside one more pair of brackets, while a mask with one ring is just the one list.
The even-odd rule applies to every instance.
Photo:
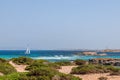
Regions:
[[120, 72], [119, 68], [103, 65], [81, 65], [72, 69], [71, 74]]

